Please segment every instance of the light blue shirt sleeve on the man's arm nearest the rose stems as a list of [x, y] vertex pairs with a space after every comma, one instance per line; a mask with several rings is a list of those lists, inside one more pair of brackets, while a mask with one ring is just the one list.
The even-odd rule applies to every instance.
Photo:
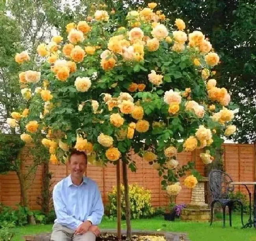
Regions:
[[87, 217], [86, 220], [90, 221], [93, 225], [98, 225], [102, 220], [103, 214], [104, 214], [104, 206], [101, 199], [100, 190], [96, 185], [93, 208], [92, 208], [91, 214]]

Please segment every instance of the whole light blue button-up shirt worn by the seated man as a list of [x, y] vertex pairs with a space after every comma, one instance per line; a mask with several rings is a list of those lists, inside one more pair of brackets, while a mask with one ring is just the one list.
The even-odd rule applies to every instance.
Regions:
[[90, 178], [83, 177], [82, 184], [76, 186], [69, 175], [54, 186], [52, 197], [57, 216], [54, 223], [72, 230], [86, 220], [93, 225], [100, 224], [104, 206], [100, 190]]

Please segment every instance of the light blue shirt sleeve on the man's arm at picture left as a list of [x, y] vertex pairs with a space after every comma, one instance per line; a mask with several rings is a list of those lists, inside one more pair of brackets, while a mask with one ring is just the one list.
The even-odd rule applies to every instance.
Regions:
[[65, 203], [61, 198], [61, 190], [58, 186], [55, 186], [52, 192], [53, 204], [55, 213], [57, 216], [58, 223], [69, 226], [69, 227], [78, 227], [82, 221], [75, 219], [74, 217], [67, 215], [67, 208]]

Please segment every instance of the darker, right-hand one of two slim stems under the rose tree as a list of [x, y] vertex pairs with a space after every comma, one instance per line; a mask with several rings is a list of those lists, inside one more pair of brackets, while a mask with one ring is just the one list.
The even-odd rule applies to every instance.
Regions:
[[125, 217], [126, 217], [126, 239], [131, 240], [131, 220], [130, 220], [130, 199], [129, 199], [129, 186], [127, 177], [127, 164], [122, 161], [122, 177], [124, 183], [124, 201], [125, 201]]

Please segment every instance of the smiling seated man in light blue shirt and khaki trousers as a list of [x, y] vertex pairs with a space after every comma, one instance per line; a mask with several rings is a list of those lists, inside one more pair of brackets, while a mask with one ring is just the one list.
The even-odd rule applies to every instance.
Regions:
[[97, 225], [104, 207], [96, 182], [83, 177], [86, 164], [84, 152], [72, 151], [71, 174], [54, 186], [52, 196], [57, 219], [51, 241], [95, 241], [100, 234]]

